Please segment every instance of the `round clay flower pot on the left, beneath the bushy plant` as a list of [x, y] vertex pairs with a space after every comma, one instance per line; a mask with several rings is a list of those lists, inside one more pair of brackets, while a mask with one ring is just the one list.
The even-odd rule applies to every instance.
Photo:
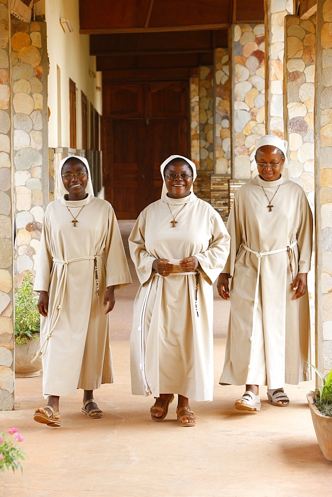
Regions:
[[23, 345], [18, 345], [15, 343], [15, 376], [16, 378], [29, 378], [33, 376], [39, 376], [40, 370], [42, 368], [41, 358], [37, 359], [31, 363], [31, 359], [34, 358], [37, 350], [40, 347], [40, 339], [32, 338], [28, 340], [27, 343]]

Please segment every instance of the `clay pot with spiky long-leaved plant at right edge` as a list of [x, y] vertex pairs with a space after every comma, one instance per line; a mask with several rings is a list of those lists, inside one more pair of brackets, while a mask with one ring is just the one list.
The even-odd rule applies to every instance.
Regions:
[[317, 440], [324, 456], [332, 461], [332, 368], [324, 376], [315, 366], [322, 386], [307, 395]]

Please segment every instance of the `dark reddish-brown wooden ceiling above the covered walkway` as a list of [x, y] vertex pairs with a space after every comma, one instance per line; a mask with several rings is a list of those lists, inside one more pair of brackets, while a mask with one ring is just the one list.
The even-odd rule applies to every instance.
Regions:
[[263, 22], [264, 0], [80, 0], [80, 32], [109, 81], [187, 79], [213, 64], [234, 22]]

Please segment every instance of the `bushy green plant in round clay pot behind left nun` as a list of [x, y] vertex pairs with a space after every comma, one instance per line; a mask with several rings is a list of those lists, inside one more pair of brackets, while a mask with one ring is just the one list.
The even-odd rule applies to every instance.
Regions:
[[20, 288], [15, 290], [15, 376], [29, 377], [40, 374], [41, 359], [32, 364], [39, 347], [40, 314], [38, 294], [33, 291], [33, 280], [27, 271]]

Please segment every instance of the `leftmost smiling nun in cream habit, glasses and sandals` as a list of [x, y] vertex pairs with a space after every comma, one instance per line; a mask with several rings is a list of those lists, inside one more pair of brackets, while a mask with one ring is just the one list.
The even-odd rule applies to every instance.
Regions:
[[[50, 426], [61, 424], [54, 399], [74, 396], [78, 388], [86, 396], [113, 382], [107, 312], [114, 290], [131, 282], [114, 211], [93, 196], [86, 159], [62, 160], [57, 183], [60, 198], [45, 211], [34, 283], [42, 314], [43, 394], [50, 404], [34, 419]], [[84, 398], [82, 412], [102, 416], [93, 399]]]

